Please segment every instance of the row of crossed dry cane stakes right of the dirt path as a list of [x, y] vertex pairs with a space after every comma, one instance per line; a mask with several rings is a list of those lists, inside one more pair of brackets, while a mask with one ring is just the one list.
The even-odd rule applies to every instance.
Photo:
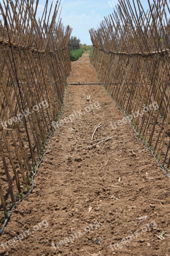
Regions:
[[[99, 81], [129, 116], [139, 138], [170, 168], [170, 9], [153, 0], [119, 1], [114, 13], [91, 29], [91, 64]], [[112, 127], [116, 127], [112, 124]], [[119, 128], [119, 125], [117, 126]]]

